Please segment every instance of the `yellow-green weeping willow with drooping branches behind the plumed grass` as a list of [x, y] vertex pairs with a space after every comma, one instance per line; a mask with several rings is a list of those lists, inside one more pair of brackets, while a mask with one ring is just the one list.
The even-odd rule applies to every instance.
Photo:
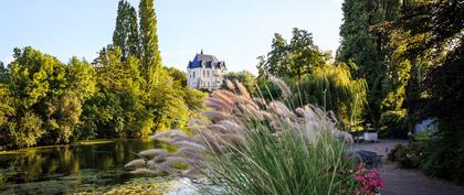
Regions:
[[[292, 91], [288, 99], [291, 105], [317, 105], [325, 110], [334, 111], [346, 128], [359, 127], [366, 105], [366, 83], [363, 79], [352, 79], [345, 64], [324, 65], [314, 69], [300, 82], [285, 79]], [[280, 88], [271, 82], [260, 85], [263, 97], [270, 99], [285, 99], [280, 96]]]

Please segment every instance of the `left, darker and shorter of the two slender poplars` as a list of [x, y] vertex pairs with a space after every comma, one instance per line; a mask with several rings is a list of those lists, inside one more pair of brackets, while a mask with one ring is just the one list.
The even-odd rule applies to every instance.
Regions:
[[118, 3], [113, 45], [122, 50], [123, 61], [126, 61], [128, 56], [140, 57], [137, 13], [126, 0], [119, 0]]

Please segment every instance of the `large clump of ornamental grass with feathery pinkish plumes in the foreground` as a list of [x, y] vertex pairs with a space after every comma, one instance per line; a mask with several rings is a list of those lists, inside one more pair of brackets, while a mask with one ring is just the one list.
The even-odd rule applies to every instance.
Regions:
[[[285, 83], [273, 80], [284, 96], [291, 95]], [[354, 193], [357, 183], [349, 170], [356, 164], [346, 155], [352, 138], [337, 128], [330, 113], [313, 105], [293, 110], [281, 101], [250, 97], [240, 83], [235, 86], [240, 94], [212, 93], [205, 104], [212, 111], [202, 113], [209, 120], [189, 122], [191, 138], [178, 131], [156, 134], [155, 140], [176, 150], [140, 152], [152, 159], [138, 165], [207, 177], [228, 194]]]

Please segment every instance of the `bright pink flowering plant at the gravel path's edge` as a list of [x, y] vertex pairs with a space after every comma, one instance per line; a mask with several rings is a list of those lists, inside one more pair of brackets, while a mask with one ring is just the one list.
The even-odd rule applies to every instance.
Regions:
[[360, 169], [355, 174], [355, 180], [360, 183], [360, 187], [355, 191], [355, 194], [359, 195], [377, 194], [380, 192], [380, 187], [383, 186], [383, 180], [380, 177], [380, 173], [376, 169]]

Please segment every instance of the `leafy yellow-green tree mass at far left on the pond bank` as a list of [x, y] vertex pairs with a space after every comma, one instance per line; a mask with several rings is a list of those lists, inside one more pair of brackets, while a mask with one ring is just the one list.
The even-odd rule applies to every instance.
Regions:
[[[80, 122], [82, 102], [95, 91], [88, 63], [72, 58], [65, 65], [32, 47], [14, 50], [6, 83], [11, 101], [3, 140], [10, 147], [67, 143]], [[28, 120], [28, 122], [24, 122]]]

